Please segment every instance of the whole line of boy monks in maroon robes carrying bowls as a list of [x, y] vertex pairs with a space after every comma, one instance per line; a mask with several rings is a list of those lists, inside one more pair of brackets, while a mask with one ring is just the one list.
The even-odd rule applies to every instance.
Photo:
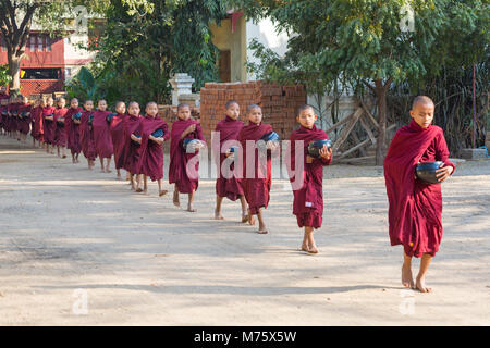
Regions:
[[[76, 98], [65, 108], [64, 98], [56, 102], [52, 98], [39, 99], [29, 104], [27, 98], [1, 99], [0, 132], [4, 135], [26, 141], [30, 132], [33, 146], [36, 141], [49, 153], [65, 157], [64, 148], [70, 149], [73, 163], [78, 163], [83, 153], [87, 159], [88, 169], [93, 169], [96, 158], [99, 158], [102, 172], [110, 173], [112, 157], [114, 158], [118, 178], [121, 169], [126, 170], [131, 189], [147, 194], [147, 179], [158, 182], [159, 196], [168, 194], [162, 189], [163, 179], [163, 142], [170, 140], [169, 183], [174, 185], [173, 203], [180, 207], [180, 194], [188, 195], [187, 211], [195, 212], [194, 196], [198, 188], [198, 152], [205, 146], [206, 139], [199, 122], [191, 117], [191, 107], [180, 104], [177, 117], [169, 132], [167, 123], [158, 116], [158, 105], [149, 102], [145, 115], [140, 114], [137, 102], [118, 102], [114, 111], [108, 111], [105, 100], [99, 100], [97, 109], [94, 102], [87, 100], [83, 108]], [[223, 220], [221, 206], [224, 198], [240, 200], [242, 204], [242, 222], [255, 225], [255, 216], [259, 221], [257, 233], [267, 234], [264, 210], [269, 204], [271, 189], [271, 157], [278, 153], [279, 142], [266, 142], [266, 165], [260, 166], [258, 149], [252, 152], [255, 159], [247, 160], [247, 151], [242, 151], [243, 175], [234, 175], [231, 165], [224, 161], [233, 160], [233, 148], [223, 151], [223, 144], [237, 141], [242, 149], [247, 141], [259, 141], [273, 133], [271, 125], [262, 123], [262, 112], [259, 105], [248, 105], [245, 119], [240, 121], [240, 105], [236, 101], [225, 104], [225, 115], [216, 127], [220, 133], [220, 149], [217, 166], [220, 175], [216, 182], [217, 201], [215, 219]], [[384, 176], [389, 198], [389, 227], [392, 245], [403, 245], [404, 263], [402, 266], [402, 283], [406, 287], [416, 288], [422, 293], [431, 291], [425, 285], [425, 275], [431, 258], [439, 250], [442, 238], [442, 196], [440, 185], [422, 183], [414, 175], [414, 167], [419, 162], [442, 161], [444, 166], [438, 171], [440, 182], [449, 177], [455, 166], [449, 161], [449, 151], [442, 129], [431, 125], [434, 104], [430, 98], [419, 96], [414, 100], [411, 110], [412, 122], [402, 127], [392, 140], [384, 160]], [[292, 132], [291, 148], [286, 151], [290, 166], [290, 181], [299, 179], [301, 185], [293, 185], [293, 214], [298, 227], [304, 228], [301, 250], [318, 253], [314, 239], [314, 229], [322, 225], [323, 214], [323, 166], [332, 160], [331, 149], [324, 146], [318, 156], [308, 152], [313, 141], [328, 139], [327, 134], [315, 125], [317, 115], [310, 105], [298, 109], [296, 121], [298, 129]], [[294, 144], [299, 141], [301, 147]], [[228, 144], [228, 142], [226, 142]], [[297, 149], [303, 150], [297, 157]], [[248, 153], [248, 156], [250, 156]], [[302, 170], [295, 163], [302, 161]], [[222, 169], [228, 167], [228, 175]], [[191, 170], [189, 170], [191, 169]], [[254, 175], [248, 175], [248, 173]], [[247, 174], [245, 174], [247, 173]], [[297, 177], [299, 175], [299, 177]], [[248, 176], [248, 177], [247, 177]], [[143, 186], [143, 187], [142, 187]], [[420, 257], [420, 271], [414, 282], [412, 275], [412, 257]]]

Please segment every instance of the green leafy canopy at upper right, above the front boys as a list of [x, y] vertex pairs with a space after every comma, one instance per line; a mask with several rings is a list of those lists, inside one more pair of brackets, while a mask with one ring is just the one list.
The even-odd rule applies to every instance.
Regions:
[[[450, 104], [442, 108], [441, 101], [437, 112], [444, 114], [437, 114], [437, 120], [446, 127], [457, 124], [453, 127], [455, 136], [464, 138], [452, 141], [453, 149], [456, 144], [467, 144], [468, 132], [461, 130], [470, 124], [468, 71], [476, 63], [480, 77], [488, 74], [488, 1], [229, 0], [229, 3], [244, 8], [254, 20], [270, 17], [278, 30], [294, 33], [283, 58], [252, 44], [261, 63], [252, 64], [250, 69], [260, 76], [278, 82], [290, 76], [293, 82], [304, 83], [310, 92], [324, 94], [330, 94], [342, 79], [342, 85], [352, 86], [357, 94], [373, 92], [378, 105], [390, 87], [391, 92], [403, 90], [408, 96], [428, 94], [436, 102], [448, 100], [451, 94], [464, 96], [456, 105], [451, 104], [455, 100], [450, 98]], [[400, 26], [406, 14], [405, 3], [414, 11], [413, 30], [402, 30]], [[478, 85], [478, 104], [482, 110], [482, 100], [488, 98], [488, 75]], [[455, 112], [456, 109], [460, 111]], [[480, 120], [487, 120], [487, 115], [488, 107]], [[458, 123], [454, 117], [466, 121]]]

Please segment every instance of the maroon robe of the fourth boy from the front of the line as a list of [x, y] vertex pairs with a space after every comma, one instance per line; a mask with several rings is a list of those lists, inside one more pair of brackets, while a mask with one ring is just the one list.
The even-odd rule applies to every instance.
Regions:
[[[222, 149], [222, 146], [225, 141], [235, 140], [238, 142], [240, 130], [242, 130], [244, 124], [242, 121], [233, 120], [226, 116], [224, 120], [220, 121], [215, 132], [219, 132], [220, 145], [219, 149], [213, 149], [215, 158], [219, 159], [216, 163], [217, 173], [219, 173], [218, 178], [216, 179], [216, 194], [219, 197], [226, 197], [228, 199], [235, 201], [240, 196], [244, 195], [242, 187], [242, 178], [241, 175], [236, 175], [234, 163], [230, 165], [224, 165], [224, 170], [222, 170], [222, 164], [226, 159], [225, 153], [221, 151], [225, 151], [226, 149]], [[238, 145], [238, 144], [236, 144]], [[236, 156], [236, 154], [235, 154]], [[235, 158], [236, 160], [236, 158]], [[232, 174], [233, 173], [233, 174]], [[231, 177], [230, 177], [231, 176]], [[236, 177], [238, 176], [238, 177]], [[230, 178], [226, 178], [230, 177]]]

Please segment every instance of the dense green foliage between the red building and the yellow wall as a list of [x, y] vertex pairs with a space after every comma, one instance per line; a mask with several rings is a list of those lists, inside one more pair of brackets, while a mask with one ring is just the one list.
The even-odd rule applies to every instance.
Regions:
[[217, 80], [209, 24], [224, 15], [219, 0], [111, 1], [106, 28], [89, 48], [97, 51], [91, 70], [108, 101], [168, 102], [174, 73], [193, 76], [196, 90]]

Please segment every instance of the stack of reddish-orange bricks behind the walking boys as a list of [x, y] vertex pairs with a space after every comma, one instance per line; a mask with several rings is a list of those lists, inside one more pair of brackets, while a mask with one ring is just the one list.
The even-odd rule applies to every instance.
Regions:
[[271, 124], [281, 139], [289, 139], [296, 125], [296, 110], [306, 103], [303, 86], [280, 86], [264, 82], [216, 84], [208, 83], [200, 89], [200, 123], [208, 140], [218, 122], [224, 117], [224, 104], [236, 100], [241, 107], [242, 121], [249, 104], [262, 108], [264, 122]]

